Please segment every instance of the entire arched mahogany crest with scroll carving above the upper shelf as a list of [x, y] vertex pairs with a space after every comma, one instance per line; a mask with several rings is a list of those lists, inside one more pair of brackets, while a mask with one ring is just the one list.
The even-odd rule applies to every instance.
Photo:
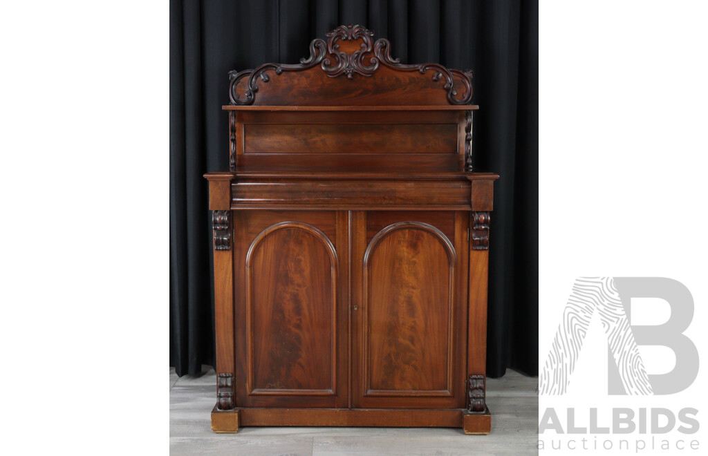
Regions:
[[299, 64], [232, 71], [230, 104], [469, 105], [471, 70], [401, 64], [392, 57], [389, 40], [373, 42], [373, 35], [361, 25], [340, 25], [327, 33], [326, 43], [312, 40], [309, 57]]

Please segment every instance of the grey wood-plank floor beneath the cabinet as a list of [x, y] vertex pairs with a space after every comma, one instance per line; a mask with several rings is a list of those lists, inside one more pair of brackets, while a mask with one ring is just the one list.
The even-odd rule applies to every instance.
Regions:
[[211, 431], [216, 375], [170, 369], [171, 455], [535, 455], [538, 378], [507, 370], [487, 379], [490, 435], [455, 428], [241, 428]]

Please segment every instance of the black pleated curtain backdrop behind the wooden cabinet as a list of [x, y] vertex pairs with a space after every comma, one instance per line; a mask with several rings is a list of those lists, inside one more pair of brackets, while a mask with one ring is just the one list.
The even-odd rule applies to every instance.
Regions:
[[229, 169], [228, 76], [295, 64], [341, 24], [392, 42], [402, 63], [474, 70], [474, 166], [501, 175], [491, 216], [487, 374], [538, 373], [537, 0], [172, 0], [170, 365], [215, 365], [207, 171]]

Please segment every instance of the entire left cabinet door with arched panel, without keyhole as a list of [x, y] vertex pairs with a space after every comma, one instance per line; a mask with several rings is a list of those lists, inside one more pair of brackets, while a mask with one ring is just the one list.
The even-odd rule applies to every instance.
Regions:
[[348, 220], [235, 211], [237, 407], [348, 404]]

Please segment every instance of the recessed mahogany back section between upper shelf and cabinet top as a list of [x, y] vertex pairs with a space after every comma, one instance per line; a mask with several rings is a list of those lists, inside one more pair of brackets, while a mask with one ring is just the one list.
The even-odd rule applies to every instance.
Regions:
[[232, 161], [236, 171], [383, 171], [395, 165], [397, 170], [451, 172], [464, 165], [459, 148], [465, 136], [459, 125], [465, 116], [469, 111], [237, 112]]

